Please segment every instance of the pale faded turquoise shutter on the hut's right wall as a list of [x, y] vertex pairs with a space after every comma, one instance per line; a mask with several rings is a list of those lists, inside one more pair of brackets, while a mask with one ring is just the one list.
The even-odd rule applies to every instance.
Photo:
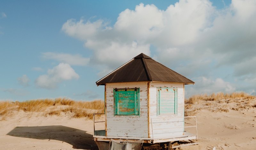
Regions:
[[158, 114], [177, 114], [177, 89], [158, 88]]

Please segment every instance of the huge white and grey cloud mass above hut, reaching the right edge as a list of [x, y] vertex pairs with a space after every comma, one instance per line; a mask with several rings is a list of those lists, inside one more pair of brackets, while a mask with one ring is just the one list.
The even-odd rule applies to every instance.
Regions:
[[209, 0], [180, 0], [165, 10], [139, 4], [122, 11], [114, 25], [69, 19], [62, 31], [92, 50], [90, 63], [100, 66], [100, 75], [145, 53], [188, 78], [204, 76], [233, 91], [239, 83], [225, 82], [224, 76], [255, 78], [255, 26], [254, 0], [232, 0], [221, 10]]

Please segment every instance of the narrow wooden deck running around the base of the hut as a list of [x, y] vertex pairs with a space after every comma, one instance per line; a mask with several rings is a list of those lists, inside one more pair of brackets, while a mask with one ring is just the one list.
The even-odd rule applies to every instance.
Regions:
[[138, 137], [116, 137], [116, 136], [105, 136], [105, 130], [97, 130], [94, 132], [93, 140], [94, 141], [110, 141], [111, 139], [115, 139], [119, 142], [124, 142], [126, 139], [129, 140], [140, 140], [143, 139], [144, 143], [162, 143], [162, 142], [170, 142], [170, 141], [180, 141], [180, 140], [191, 140], [196, 139], [196, 135], [191, 134], [189, 132], [184, 132], [184, 135], [180, 136], [169, 136], [169, 137], [161, 137], [161, 138], [138, 138]]

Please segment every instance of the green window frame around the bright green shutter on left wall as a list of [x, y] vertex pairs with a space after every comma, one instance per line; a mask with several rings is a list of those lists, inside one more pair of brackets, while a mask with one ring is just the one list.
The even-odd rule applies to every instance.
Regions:
[[[134, 93], [134, 114], [119, 114], [119, 97], [117, 97], [118, 100], [116, 100], [116, 91], [126, 91], [126, 90], [134, 90], [137, 91], [136, 93]], [[140, 88], [114, 88], [113, 89], [113, 97], [114, 97], [114, 116], [120, 116], [120, 115], [124, 115], [124, 116], [140, 116]], [[137, 103], [137, 104], [136, 104]], [[137, 106], [137, 108], [136, 108]], [[138, 109], [138, 111], [137, 111]], [[126, 111], [129, 112], [129, 111]]]

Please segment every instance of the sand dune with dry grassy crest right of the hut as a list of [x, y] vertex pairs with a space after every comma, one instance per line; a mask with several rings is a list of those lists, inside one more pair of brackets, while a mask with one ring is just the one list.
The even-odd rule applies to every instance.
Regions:
[[[184, 150], [256, 149], [256, 100], [233, 98], [217, 101], [198, 101], [187, 109], [196, 113], [199, 145]], [[187, 121], [189, 123], [189, 120]]]

